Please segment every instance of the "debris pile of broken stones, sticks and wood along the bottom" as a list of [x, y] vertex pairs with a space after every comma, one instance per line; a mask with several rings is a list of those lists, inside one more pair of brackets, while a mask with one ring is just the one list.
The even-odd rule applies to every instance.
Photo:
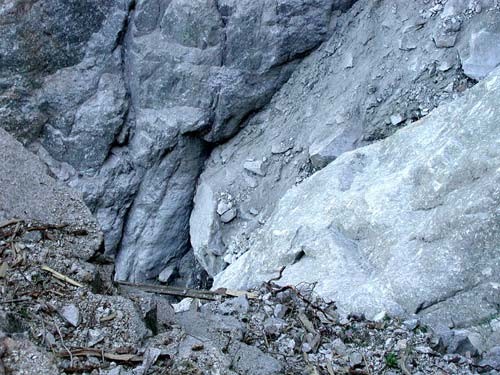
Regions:
[[[314, 284], [280, 286], [271, 280], [253, 292], [113, 285], [102, 266], [64, 256], [69, 242], [81, 236], [85, 230], [70, 225], [0, 224], [0, 371], [370, 375], [500, 370], [498, 350], [479, 359], [466, 337], [446, 345], [417, 318], [341, 316], [334, 302], [315, 295]], [[182, 295], [191, 297], [174, 303]]]

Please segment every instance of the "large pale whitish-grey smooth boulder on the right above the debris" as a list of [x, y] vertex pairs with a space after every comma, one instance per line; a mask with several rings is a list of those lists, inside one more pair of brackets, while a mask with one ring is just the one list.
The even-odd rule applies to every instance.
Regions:
[[499, 100], [497, 69], [425, 119], [343, 154], [285, 194], [215, 286], [254, 286], [286, 266], [281, 283], [317, 282], [344, 311], [488, 324], [500, 296]]

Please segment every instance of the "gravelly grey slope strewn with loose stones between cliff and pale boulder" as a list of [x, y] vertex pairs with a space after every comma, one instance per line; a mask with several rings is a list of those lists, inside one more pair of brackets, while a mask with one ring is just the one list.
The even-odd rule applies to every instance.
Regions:
[[[500, 9], [488, 1], [481, 9], [459, 3], [365, 0], [335, 17], [332, 37], [207, 161], [191, 216], [191, 243], [211, 275], [248, 249], [249, 235], [289, 188], [473, 84], [461, 61], [487, 63], [484, 54], [497, 55], [495, 44], [471, 50], [470, 39], [497, 32]], [[435, 39], [450, 35], [453, 46], [436, 46]], [[231, 220], [217, 212], [221, 204], [231, 205]]]

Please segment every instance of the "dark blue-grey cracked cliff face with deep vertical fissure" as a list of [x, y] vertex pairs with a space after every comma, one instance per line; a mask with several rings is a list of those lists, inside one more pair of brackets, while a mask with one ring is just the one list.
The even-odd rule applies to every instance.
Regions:
[[118, 278], [154, 278], [189, 248], [207, 142], [244, 126], [352, 2], [4, 2], [0, 126], [84, 193]]

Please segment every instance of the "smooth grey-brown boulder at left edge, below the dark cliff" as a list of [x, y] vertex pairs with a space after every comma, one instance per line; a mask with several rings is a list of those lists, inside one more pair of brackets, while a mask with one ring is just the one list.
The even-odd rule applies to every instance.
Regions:
[[50, 177], [47, 167], [3, 129], [0, 160], [0, 222], [85, 228], [85, 240], [67, 246], [66, 255], [88, 259], [99, 250], [102, 235], [81, 196]]

